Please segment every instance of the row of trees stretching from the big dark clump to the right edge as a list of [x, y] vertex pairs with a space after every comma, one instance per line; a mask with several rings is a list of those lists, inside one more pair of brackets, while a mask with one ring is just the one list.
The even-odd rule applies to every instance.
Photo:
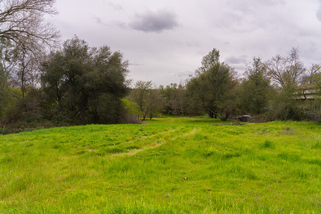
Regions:
[[[253, 57], [243, 75], [220, 62], [219, 50], [213, 48], [202, 58], [201, 66], [186, 81], [167, 86], [153, 86], [138, 81], [128, 99], [139, 106], [143, 120], [163, 113], [176, 116], [208, 115], [226, 121], [231, 116], [252, 115], [257, 121], [320, 120], [321, 67], [305, 68], [299, 49], [288, 56], [269, 60]], [[313, 84], [314, 98], [297, 99], [298, 86]]]

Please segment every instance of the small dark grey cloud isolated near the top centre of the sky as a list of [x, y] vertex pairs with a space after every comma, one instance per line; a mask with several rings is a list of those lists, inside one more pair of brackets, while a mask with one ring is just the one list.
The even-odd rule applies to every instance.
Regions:
[[147, 11], [144, 14], [136, 14], [129, 27], [146, 33], [161, 33], [164, 30], [172, 30], [179, 26], [176, 13], [170, 10]]

